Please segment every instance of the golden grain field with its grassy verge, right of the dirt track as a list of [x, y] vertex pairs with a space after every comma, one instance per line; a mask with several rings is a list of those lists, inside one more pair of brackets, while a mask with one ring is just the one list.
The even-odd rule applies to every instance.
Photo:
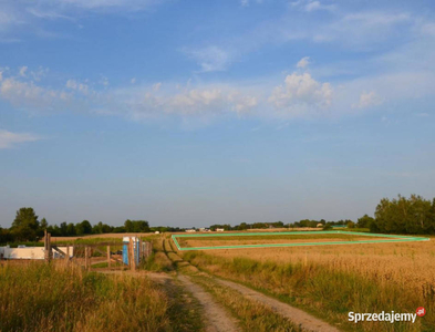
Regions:
[[[213, 243], [215, 245], [215, 243]], [[236, 245], [236, 242], [234, 242]], [[263, 290], [349, 331], [434, 331], [431, 241], [188, 251], [200, 269]], [[348, 322], [348, 312], [427, 314], [410, 323]]]

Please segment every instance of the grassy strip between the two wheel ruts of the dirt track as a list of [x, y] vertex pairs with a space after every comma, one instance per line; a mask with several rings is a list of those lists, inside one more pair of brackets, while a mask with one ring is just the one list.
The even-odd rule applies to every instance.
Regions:
[[299, 332], [300, 328], [289, 320], [275, 313], [266, 305], [245, 298], [240, 292], [224, 287], [206, 276], [190, 276], [191, 280], [200, 284], [217, 302], [222, 304], [240, 323], [241, 331], [251, 332]]

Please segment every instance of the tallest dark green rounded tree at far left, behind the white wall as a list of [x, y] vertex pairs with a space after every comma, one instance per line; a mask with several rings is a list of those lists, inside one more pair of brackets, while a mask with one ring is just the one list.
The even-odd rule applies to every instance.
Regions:
[[39, 227], [38, 216], [34, 214], [33, 208], [22, 207], [17, 211], [11, 232], [17, 240], [34, 241], [39, 234]]

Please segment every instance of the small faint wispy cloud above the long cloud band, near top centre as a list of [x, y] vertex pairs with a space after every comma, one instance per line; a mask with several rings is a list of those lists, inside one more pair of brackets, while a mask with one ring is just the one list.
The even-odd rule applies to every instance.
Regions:
[[215, 45], [197, 50], [185, 50], [185, 53], [198, 62], [203, 72], [224, 71], [232, 61], [232, 56], [228, 51]]

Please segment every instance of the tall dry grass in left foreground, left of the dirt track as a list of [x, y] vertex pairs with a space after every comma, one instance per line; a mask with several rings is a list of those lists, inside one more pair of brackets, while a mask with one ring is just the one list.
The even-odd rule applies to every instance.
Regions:
[[0, 267], [0, 331], [166, 331], [167, 309], [147, 279], [54, 263]]

